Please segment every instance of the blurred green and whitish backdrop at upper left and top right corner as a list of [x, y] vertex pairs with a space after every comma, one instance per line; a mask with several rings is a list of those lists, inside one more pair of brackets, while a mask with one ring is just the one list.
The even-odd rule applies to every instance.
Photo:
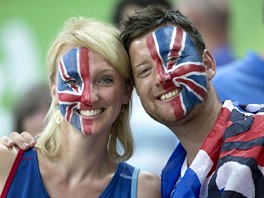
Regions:
[[[0, 0], [0, 133], [11, 130], [10, 111], [16, 99], [35, 81], [46, 80], [46, 52], [63, 22], [71, 16], [87, 16], [111, 23], [116, 3]], [[248, 49], [264, 54], [263, 1], [230, 0], [230, 5], [230, 33], [236, 56], [244, 56]]]

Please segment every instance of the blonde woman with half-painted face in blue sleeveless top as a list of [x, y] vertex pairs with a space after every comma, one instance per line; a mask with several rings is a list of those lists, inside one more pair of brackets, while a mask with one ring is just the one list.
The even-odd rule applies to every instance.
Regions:
[[35, 149], [0, 146], [1, 198], [160, 197], [158, 176], [123, 162], [133, 153], [132, 80], [119, 32], [72, 18], [47, 60], [49, 119]]

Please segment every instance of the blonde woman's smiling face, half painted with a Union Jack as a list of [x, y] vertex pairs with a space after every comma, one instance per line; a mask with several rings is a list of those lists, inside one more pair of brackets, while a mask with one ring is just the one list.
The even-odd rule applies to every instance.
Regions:
[[117, 70], [87, 48], [69, 50], [58, 67], [55, 97], [64, 119], [86, 135], [110, 131], [122, 104], [130, 99]]

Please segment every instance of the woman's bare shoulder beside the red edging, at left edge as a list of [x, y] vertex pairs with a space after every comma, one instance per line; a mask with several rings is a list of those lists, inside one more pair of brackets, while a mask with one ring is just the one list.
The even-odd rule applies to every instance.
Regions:
[[17, 154], [18, 149], [16, 147], [9, 148], [3, 144], [0, 144], [0, 192], [3, 190], [6, 179], [11, 171]]

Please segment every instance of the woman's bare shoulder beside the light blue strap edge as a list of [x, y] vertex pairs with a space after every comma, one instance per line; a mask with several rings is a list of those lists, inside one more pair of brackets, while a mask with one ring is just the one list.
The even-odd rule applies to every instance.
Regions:
[[160, 177], [154, 173], [141, 170], [138, 176], [138, 196], [137, 197], [161, 197]]

